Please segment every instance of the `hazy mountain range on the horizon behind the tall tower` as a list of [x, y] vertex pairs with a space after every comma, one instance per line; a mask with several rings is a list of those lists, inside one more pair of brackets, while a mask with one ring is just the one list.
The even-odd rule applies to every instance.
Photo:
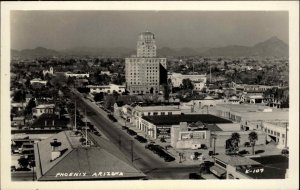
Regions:
[[[117, 47], [117, 48], [91, 48], [91, 47], [76, 47], [64, 50], [53, 50], [44, 47], [35, 49], [11, 50], [12, 57], [21, 58], [36, 58], [48, 56], [111, 56], [111, 57], [128, 57], [135, 54], [135, 49]], [[284, 56], [288, 57], [288, 44], [278, 39], [271, 37], [264, 42], [255, 44], [254, 46], [231, 45], [216, 48], [180, 48], [174, 49], [162, 47], [157, 50], [158, 56]]]

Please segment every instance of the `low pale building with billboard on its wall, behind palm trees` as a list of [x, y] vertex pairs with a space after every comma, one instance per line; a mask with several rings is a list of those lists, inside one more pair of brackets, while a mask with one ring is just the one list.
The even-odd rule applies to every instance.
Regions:
[[[197, 124], [197, 122], [196, 122]], [[249, 142], [249, 133], [243, 131], [237, 123], [201, 124], [196, 127], [195, 123], [180, 123], [171, 128], [171, 146], [177, 149], [197, 149], [206, 147], [225, 147], [232, 133], [240, 135], [240, 145]], [[193, 129], [194, 128], [194, 129]], [[263, 131], [255, 131], [258, 139], [256, 145], [266, 144], [266, 134]]]

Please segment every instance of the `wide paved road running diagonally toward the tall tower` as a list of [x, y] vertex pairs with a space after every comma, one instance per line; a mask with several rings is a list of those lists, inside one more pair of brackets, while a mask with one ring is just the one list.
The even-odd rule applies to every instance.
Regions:
[[188, 173], [198, 171], [198, 168], [195, 166], [183, 167], [176, 162], [165, 162], [158, 155], [145, 149], [145, 144], [136, 141], [124, 130], [121, 130], [117, 123], [112, 123], [107, 118], [107, 113], [94, 103], [83, 98], [77, 91], [73, 91], [73, 93], [77, 97], [78, 109], [84, 110], [85, 107], [89, 120], [93, 122], [95, 127], [98, 127], [111, 142], [118, 146], [129, 160], [132, 158], [131, 143], [133, 143], [133, 164], [148, 175], [149, 178], [186, 179]]

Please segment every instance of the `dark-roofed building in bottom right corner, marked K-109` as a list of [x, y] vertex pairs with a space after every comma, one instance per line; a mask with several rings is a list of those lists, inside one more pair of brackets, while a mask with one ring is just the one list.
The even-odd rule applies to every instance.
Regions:
[[289, 159], [282, 155], [261, 157], [215, 156], [210, 171], [223, 179], [285, 179]]

